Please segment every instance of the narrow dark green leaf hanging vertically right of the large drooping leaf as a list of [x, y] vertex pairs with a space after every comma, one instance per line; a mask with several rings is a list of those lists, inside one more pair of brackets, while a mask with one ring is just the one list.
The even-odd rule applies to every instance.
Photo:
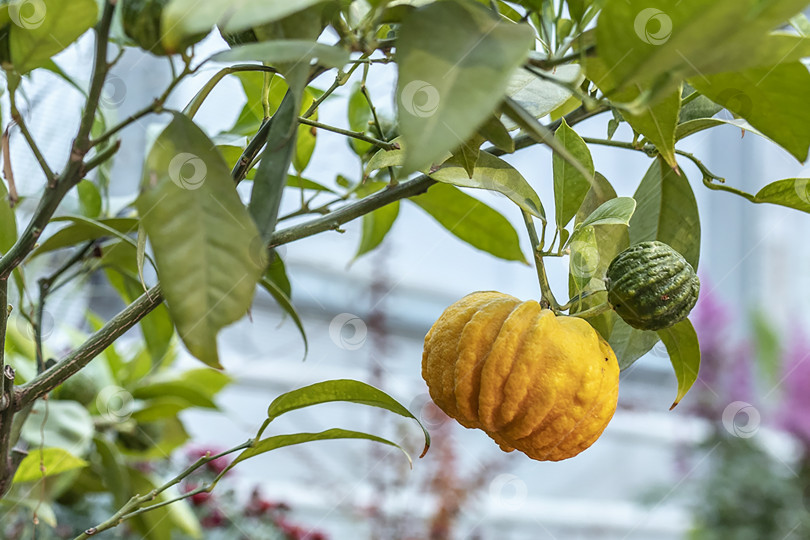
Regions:
[[281, 194], [287, 183], [287, 171], [295, 153], [298, 127], [298, 105], [293, 92], [288, 91], [267, 134], [267, 146], [253, 178], [248, 211], [264, 240], [276, 229]]

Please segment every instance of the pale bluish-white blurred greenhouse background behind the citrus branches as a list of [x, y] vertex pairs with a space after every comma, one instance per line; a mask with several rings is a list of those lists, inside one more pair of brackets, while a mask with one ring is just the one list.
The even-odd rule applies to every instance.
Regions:
[[[62, 69], [82, 82], [89, 76], [92, 54], [92, 40], [86, 38], [57, 57]], [[219, 36], [211, 36], [197, 46], [197, 57], [224, 47]], [[169, 108], [182, 109], [216, 69], [207, 66], [182, 84]], [[394, 77], [388, 66], [374, 66], [369, 77], [369, 90], [387, 117], [394, 114]], [[169, 80], [165, 59], [129, 49], [105, 88], [103, 105], [111, 118], [124, 118], [161, 93]], [[330, 83], [331, 77], [324, 76], [314, 86]], [[64, 162], [72, 129], [63, 128], [78, 120], [81, 95], [49, 73], [36, 73], [23, 88], [34, 137], [51, 163]], [[350, 90], [351, 84], [346, 85], [324, 102], [319, 120], [348, 127]], [[228, 78], [195, 120], [214, 137], [233, 124], [244, 106], [240, 81]], [[110, 172], [113, 207], [122, 208], [136, 196], [150, 141], [168, 119], [150, 116], [123, 132], [122, 149]], [[593, 118], [576, 130], [605, 137], [608, 119]], [[32, 196], [21, 204], [25, 215], [42, 185], [28, 180], [39, 177], [37, 165], [18, 131], [12, 129], [11, 134], [18, 190], [23, 197]], [[631, 137], [626, 124], [614, 136]], [[244, 144], [244, 137], [232, 134], [216, 140]], [[752, 133], [742, 136], [731, 126], [693, 135], [680, 148], [695, 153], [730, 185], [749, 192], [780, 178], [810, 177], [810, 168], [786, 152]], [[632, 196], [648, 158], [621, 149], [591, 150], [596, 169], [618, 194]], [[532, 147], [505, 159], [529, 180], [546, 207], [552, 207], [550, 151]], [[702, 217], [698, 273], [703, 286], [691, 319], [700, 336], [703, 364], [695, 387], [675, 410], [669, 410], [675, 376], [659, 344], [622, 374], [613, 421], [597, 443], [576, 458], [541, 463], [505, 454], [484, 433], [450, 421], [433, 406], [421, 378], [425, 333], [446, 306], [472, 291], [538, 298], [537, 278], [531, 266], [479, 252], [416, 205], [403, 202], [382, 246], [356, 260], [359, 222], [347, 224], [342, 233], [327, 232], [282, 247], [293, 303], [309, 340], [306, 359], [289, 316], [269, 295], [259, 294], [251, 316], [221, 334], [221, 358], [233, 380], [216, 398], [220, 410], [181, 412], [190, 438], [163, 456], [164, 466], [180, 470], [200, 452], [239, 444], [255, 433], [276, 396], [333, 378], [366, 381], [408, 406], [430, 430], [431, 450], [423, 459], [414, 459], [413, 469], [396, 449], [365, 441], [320, 442], [268, 453], [237, 467], [212, 496], [192, 500], [192, 510], [203, 520], [204, 537], [810, 537], [810, 249], [805, 240], [810, 217], [709, 191], [691, 163], [681, 164]], [[318, 131], [303, 176], [333, 186], [338, 175], [360, 180], [360, 161], [345, 138]], [[300, 204], [297, 193], [289, 191], [282, 214]], [[468, 193], [512, 221], [528, 256], [517, 208], [488, 192]], [[60, 211], [74, 212], [77, 205], [68, 200]], [[558, 298], [564, 298], [566, 264], [552, 261], [549, 272]], [[87, 281], [80, 282], [48, 304], [47, 344], [56, 353], [69, 347], [76, 329], [91, 330], [88, 310], [107, 319], [122, 306], [102, 276], [91, 276], [89, 282], [92, 289], [82, 288]], [[136, 343], [137, 331], [128, 339]], [[181, 345], [177, 348], [178, 369], [198, 367]], [[421, 432], [413, 422], [356, 405], [330, 404], [291, 413], [274, 423], [272, 431], [330, 427], [389, 437], [414, 457], [421, 450]]]

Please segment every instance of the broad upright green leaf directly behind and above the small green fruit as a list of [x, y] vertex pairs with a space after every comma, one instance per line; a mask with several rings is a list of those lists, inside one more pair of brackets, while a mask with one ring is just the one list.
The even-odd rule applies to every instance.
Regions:
[[630, 219], [630, 244], [650, 240], [669, 244], [697, 270], [700, 216], [686, 175], [677, 174], [656, 159], [633, 198], [638, 206]]

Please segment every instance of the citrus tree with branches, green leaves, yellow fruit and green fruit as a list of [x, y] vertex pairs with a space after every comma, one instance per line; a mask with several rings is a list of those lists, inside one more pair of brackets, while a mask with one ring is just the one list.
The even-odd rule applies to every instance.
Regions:
[[[214, 406], [229, 381], [217, 333], [247, 315], [257, 288], [269, 291], [303, 335], [280, 246], [362, 220], [361, 256], [384, 241], [400, 204], [415, 204], [460, 241], [525, 261], [512, 221], [460, 188], [514, 202], [508, 217], [525, 226], [539, 295], [521, 302], [479, 293], [448, 308], [428, 335], [422, 366], [436, 403], [465, 426], [487, 431], [504, 450], [565, 459], [593, 443], [612, 417], [619, 370], [660, 340], [678, 381], [676, 405], [700, 364], [686, 318], [699, 288], [694, 190], [810, 212], [808, 179], [772, 179], [746, 193], [678, 143], [731, 124], [799, 162], [807, 159], [810, 73], [802, 58], [810, 56], [810, 22], [801, 13], [807, 5], [3, 0], [0, 56], [11, 118], [0, 204], [0, 497], [36, 508], [47, 520], [56, 498], [109, 492], [120, 509], [88, 523], [79, 538], [122, 522], [163, 538], [170, 533], [159, 531], [172, 528], [194, 533], [183, 499], [211, 491], [228, 469], [253, 456], [324, 439], [397, 446], [342, 429], [265, 434], [279, 415], [330, 401], [413, 418], [376, 388], [333, 380], [279, 396], [255, 437], [203, 455], [177, 476], [158, 479], [134, 466], [185, 442], [179, 411]], [[212, 32], [224, 38], [221, 51], [195, 54], [195, 44]], [[85, 33], [95, 43], [93, 59], [87, 76], [73, 80], [53, 57]], [[100, 106], [105, 83], [130, 47], [163, 58], [173, 76], [142, 110], [111, 119]], [[378, 113], [366, 87], [389, 69], [384, 64], [397, 70], [390, 89], [395, 118]], [[217, 71], [182, 110], [167, 107], [179, 84], [212, 66]], [[78, 124], [64, 123], [73, 135], [63, 163], [45, 159], [20, 112], [23, 82], [45, 70], [84, 99]], [[243, 145], [218, 144], [221, 138], [194, 120], [226, 78], [239, 80], [247, 103], [222, 131], [244, 137]], [[350, 90], [346, 123], [319, 122], [321, 104], [343, 87]], [[731, 114], [715, 117], [723, 109]], [[149, 115], [161, 115], [165, 128], [143, 163], [138, 196], [114, 206], [108, 188], [116, 181], [110, 166], [119, 135]], [[576, 125], [593, 117], [604, 120], [603, 138], [577, 133]], [[622, 123], [632, 138], [614, 138]], [[17, 212], [9, 130], [19, 131], [41, 169], [31, 213]], [[347, 155], [362, 165], [362, 175], [331, 183], [307, 178], [324, 131], [346, 137]], [[618, 197], [595, 170], [596, 145], [649, 158], [633, 197]], [[502, 157], [549, 150], [553, 166], [545, 177], [554, 200], [541, 201]], [[698, 176], [687, 178], [683, 164]], [[240, 184], [246, 186], [237, 191]], [[279, 215], [285, 198], [300, 207]], [[75, 199], [79, 204], [68, 208]], [[567, 291], [552, 291], [547, 263], [568, 265]], [[150, 268], [158, 282], [147, 283]], [[93, 273], [126, 307], [109, 320], [91, 316], [94, 331], [74, 336], [74, 348], [52, 358], [43, 321], [49, 296]], [[10, 317], [23, 323], [10, 325]], [[141, 346], [116, 349], [136, 326]], [[29, 331], [32, 341], [24, 335]], [[169, 369], [175, 336], [199, 369]], [[123, 414], [121, 396], [135, 400], [126, 403], [125, 421], [107, 421]], [[43, 408], [47, 421], [34, 414]], [[60, 446], [44, 431], [71, 445]], [[427, 450], [427, 431], [425, 440]], [[212, 481], [173, 491], [186, 475], [231, 454]], [[31, 484], [46, 477], [47, 489], [31, 495]], [[167, 516], [156, 532], [153, 525]]]

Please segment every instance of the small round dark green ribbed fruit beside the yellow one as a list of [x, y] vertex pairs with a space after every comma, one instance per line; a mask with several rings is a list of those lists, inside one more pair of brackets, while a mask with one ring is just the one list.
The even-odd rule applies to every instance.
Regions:
[[663, 242], [642, 242], [619, 253], [606, 273], [608, 302], [640, 330], [661, 330], [685, 319], [700, 280], [683, 255]]

